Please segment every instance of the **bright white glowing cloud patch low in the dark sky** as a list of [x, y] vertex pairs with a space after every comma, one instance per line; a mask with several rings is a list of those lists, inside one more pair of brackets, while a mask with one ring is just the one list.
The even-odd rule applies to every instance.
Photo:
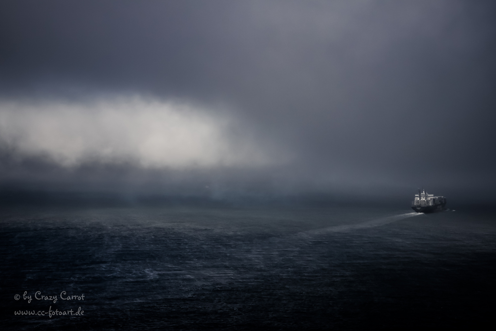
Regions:
[[253, 167], [273, 162], [226, 116], [178, 102], [0, 102], [0, 142], [19, 157], [64, 167], [131, 162], [145, 168]]

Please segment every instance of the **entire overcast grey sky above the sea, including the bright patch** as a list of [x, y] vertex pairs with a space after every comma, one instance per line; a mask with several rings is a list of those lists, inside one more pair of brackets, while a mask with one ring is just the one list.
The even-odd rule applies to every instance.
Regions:
[[3, 0], [1, 185], [496, 199], [495, 14], [493, 1]]

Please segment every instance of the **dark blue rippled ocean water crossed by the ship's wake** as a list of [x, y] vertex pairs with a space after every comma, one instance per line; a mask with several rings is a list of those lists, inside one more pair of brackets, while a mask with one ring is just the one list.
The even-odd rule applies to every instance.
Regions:
[[[418, 330], [495, 322], [493, 212], [17, 207], [1, 211], [0, 226], [2, 330]], [[37, 291], [57, 301], [37, 300]], [[62, 291], [84, 300], [62, 300]], [[49, 317], [50, 307], [73, 315]]]

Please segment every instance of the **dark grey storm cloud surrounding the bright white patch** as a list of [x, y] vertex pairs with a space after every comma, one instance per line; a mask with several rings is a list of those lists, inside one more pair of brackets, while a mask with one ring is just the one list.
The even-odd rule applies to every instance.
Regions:
[[[231, 133], [257, 137], [250, 148], [284, 150], [270, 166], [198, 170], [225, 187], [458, 186], [494, 197], [495, 8], [489, 1], [2, 1], [0, 83], [5, 102], [17, 105], [65, 100], [80, 109], [92, 98], [128, 94], [186, 100], [209, 114], [222, 105]], [[4, 169], [19, 147], [10, 148]], [[187, 181], [177, 178], [178, 186]]]

